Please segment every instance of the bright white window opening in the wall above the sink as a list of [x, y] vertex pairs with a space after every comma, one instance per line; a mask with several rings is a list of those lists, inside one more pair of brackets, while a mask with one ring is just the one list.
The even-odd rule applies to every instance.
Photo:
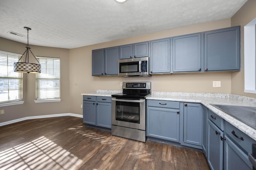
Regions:
[[256, 18], [244, 26], [244, 92], [256, 93]]

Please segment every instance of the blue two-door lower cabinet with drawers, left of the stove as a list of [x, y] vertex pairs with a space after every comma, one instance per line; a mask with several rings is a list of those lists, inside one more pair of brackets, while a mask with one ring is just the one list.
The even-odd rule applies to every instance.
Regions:
[[111, 129], [111, 97], [84, 96], [83, 123]]

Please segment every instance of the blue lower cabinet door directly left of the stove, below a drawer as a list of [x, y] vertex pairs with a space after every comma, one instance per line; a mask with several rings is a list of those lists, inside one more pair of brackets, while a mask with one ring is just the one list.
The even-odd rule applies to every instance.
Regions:
[[111, 128], [111, 103], [97, 102], [97, 126]]

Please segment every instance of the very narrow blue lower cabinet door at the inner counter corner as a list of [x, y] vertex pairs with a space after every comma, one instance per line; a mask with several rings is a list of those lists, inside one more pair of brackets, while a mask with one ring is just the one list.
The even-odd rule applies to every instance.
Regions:
[[205, 106], [202, 106], [203, 109], [203, 135], [202, 135], [202, 150], [204, 152], [204, 155], [208, 156], [208, 150], [207, 150], [207, 137], [208, 137], [208, 108]]

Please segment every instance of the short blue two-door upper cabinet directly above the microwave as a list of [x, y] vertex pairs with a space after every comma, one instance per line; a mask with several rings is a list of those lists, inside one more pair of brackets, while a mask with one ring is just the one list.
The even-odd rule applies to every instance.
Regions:
[[119, 59], [148, 57], [148, 42], [119, 46]]

